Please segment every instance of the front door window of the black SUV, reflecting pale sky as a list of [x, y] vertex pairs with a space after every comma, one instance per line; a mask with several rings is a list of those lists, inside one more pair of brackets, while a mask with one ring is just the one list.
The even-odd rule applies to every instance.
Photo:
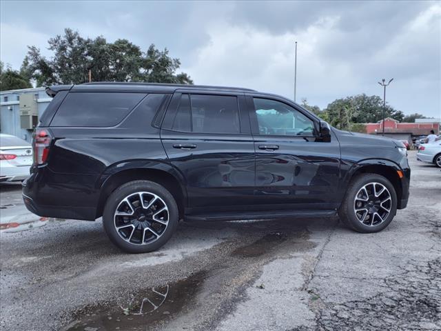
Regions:
[[254, 98], [254, 108], [260, 134], [314, 135], [314, 122], [283, 102]]

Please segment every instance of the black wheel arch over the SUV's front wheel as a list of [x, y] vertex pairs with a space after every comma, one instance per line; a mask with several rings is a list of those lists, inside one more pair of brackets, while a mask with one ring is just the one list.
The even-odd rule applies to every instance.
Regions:
[[403, 187], [400, 176], [398, 175], [398, 171], [402, 170], [396, 163], [389, 160], [369, 159], [356, 163], [352, 166], [351, 170], [347, 174], [347, 178], [344, 181], [346, 185], [345, 194], [351, 180], [357, 177], [359, 174], [380, 174], [381, 176], [387, 178], [393, 185], [393, 188], [397, 194], [398, 209], [400, 209]]

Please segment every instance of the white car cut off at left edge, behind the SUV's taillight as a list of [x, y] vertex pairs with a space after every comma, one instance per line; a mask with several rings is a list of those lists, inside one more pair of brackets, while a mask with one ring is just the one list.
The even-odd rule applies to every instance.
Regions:
[[0, 133], [0, 182], [23, 181], [32, 165], [32, 146], [28, 141]]

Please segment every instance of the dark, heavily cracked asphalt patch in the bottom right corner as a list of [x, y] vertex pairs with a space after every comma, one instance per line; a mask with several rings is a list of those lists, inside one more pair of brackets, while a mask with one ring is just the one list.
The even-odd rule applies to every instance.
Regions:
[[324, 302], [314, 330], [441, 330], [441, 259], [413, 265], [383, 285], [384, 292], [367, 300]]

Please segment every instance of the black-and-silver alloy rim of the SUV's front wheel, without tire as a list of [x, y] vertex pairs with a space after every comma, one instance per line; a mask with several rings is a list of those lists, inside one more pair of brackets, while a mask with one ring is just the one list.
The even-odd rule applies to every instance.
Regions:
[[391, 208], [391, 193], [382, 183], [367, 183], [358, 190], [353, 201], [353, 210], [358, 221], [368, 226], [383, 223]]

